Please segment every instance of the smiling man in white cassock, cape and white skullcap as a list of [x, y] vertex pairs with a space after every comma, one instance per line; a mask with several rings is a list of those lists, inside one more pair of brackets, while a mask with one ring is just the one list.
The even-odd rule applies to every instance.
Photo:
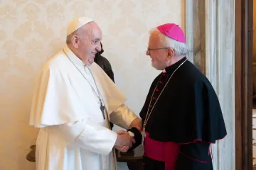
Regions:
[[102, 32], [91, 18], [75, 18], [67, 43], [43, 66], [31, 107], [38, 170], [117, 169], [114, 148], [126, 152], [134, 138], [113, 132], [112, 123], [141, 130], [141, 119], [124, 105], [126, 98], [94, 63]]

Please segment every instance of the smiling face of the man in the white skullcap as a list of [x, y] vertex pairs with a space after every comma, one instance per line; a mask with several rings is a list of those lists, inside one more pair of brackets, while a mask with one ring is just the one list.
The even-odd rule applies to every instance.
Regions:
[[82, 37], [78, 41], [78, 52], [82, 62], [91, 65], [97, 52], [101, 51], [102, 32], [95, 22], [91, 22], [81, 30]]

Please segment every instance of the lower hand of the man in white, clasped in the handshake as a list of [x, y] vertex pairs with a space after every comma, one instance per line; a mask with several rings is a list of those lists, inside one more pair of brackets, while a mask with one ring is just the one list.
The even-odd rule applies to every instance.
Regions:
[[117, 132], [117, 140], [114, 143], [114, 147], [132, 147], [133, 143], [135, 143], [135, 140], [129, 135], [129, 132], [125, 132], [124, 130], [119, 130]]

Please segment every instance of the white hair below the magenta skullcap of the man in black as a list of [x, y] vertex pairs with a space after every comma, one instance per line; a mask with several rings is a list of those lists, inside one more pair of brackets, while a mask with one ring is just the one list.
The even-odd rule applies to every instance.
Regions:
[[158, 33], [159, 41], [161, 42], [161, 44], [164, 45], [164, 47], [171, 47], [172, 49], [174, 49], [174, 52], [177, 57], [181, 57], [188, 54], [189, 50], [186, 43], [178, 42], [177, 40], [167, 37], [166, 35], [161, 33], [157, 28], [151, 29], [149, 33]]

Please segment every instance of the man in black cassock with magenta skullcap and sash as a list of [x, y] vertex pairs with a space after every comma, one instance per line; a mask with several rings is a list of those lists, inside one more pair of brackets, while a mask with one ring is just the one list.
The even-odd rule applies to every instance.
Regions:
[[167, 23], [151, 31], [146, 55], [162, 72], [140, 112], [144, 170], [213, 169], [210, 145], [227, 135], [218, 97], [187, 53], [178, 25]]

